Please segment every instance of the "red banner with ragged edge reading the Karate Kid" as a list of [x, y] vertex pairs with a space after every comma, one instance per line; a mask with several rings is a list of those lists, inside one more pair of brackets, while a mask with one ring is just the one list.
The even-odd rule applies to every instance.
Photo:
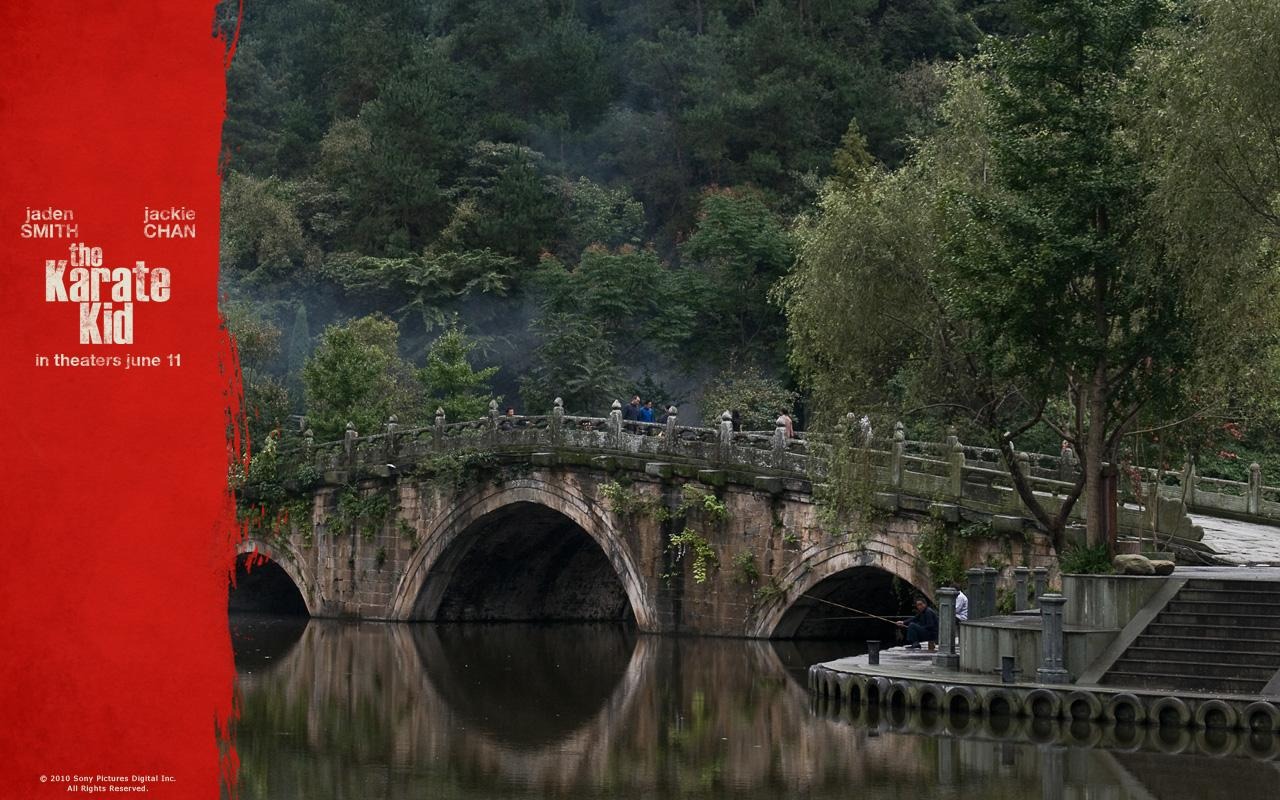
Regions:
[[0, 52], [0, 797], [216, 797], [228, 42], [210, 1], [49, 0]]

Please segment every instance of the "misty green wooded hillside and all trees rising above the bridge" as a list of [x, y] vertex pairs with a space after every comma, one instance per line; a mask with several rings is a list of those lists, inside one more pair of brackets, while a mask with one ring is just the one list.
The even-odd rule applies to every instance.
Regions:
[[1276, 86], [1266, 0], [250, 0], [251, 424], [639, 393], [1280, 474]]

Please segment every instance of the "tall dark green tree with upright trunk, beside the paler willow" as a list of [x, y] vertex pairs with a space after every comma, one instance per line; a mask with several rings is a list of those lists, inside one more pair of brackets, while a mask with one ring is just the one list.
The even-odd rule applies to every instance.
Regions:
[[1046, 421], [1082, 457], [1091, 544], [1106, 535], [1105, 462], [1143, 407], [1171, 392], [1167, 367], [1190, 355], [1189, 276], [1140, 246], [1149, 183], [1120, 114], [1134, 51], [1165, 8], [1023, 3], [1028, 33], [988, 52], [993, 191], [960, 197], [970, 214], [943, 251], [946, 289], [974, 325], [984, 369], [1009, 383], [984, 407], [1018, 401], [1029, 411], [996, 440], [1019, 494], [1046, 520], [1014, 440], [1065, 384], [1071, 417]]

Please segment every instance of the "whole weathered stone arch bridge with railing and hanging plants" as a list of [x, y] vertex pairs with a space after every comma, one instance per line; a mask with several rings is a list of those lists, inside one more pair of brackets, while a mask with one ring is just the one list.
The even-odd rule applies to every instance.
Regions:
[[[946, 525], [966, 527], [952, 541], [972, 562], [1053, 566], [993, 451], [911, 442], [901, 426], [856, 435], [847, 457], [877, 490], [838, 529], [814, 499], [832, 442], [727, 420], [631, 422], [617, 404], [577, 417], [557, 402], [544, 416], [494, 408], [372, 435], [348, 426], [340, 442], [271, 440], [241, 489], [232, 607], [288, 596], [317, 617], [826, 637], [865, 632], [851, 609], [902, 613], [928, 594], [919, 545]], [[1036, 458], [1052, 502], [1070, 465]]]

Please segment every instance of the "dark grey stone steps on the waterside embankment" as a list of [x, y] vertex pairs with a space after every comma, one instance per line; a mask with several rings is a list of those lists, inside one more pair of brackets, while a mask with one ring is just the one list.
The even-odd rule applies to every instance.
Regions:
[[1262, 694], [1280, 672], [1280, 584], [1194, 579], [1102, 677], [1107, 686]]

